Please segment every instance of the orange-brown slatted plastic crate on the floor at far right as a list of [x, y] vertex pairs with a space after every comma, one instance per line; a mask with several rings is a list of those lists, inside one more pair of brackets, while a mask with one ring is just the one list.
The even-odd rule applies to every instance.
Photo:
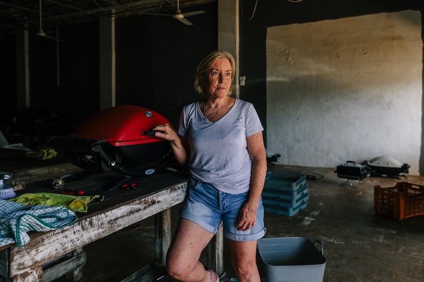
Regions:
[[397, 220], [424, 215], [424, 186], [397, 182], [394, 187], [374, 186], [374, 211]]

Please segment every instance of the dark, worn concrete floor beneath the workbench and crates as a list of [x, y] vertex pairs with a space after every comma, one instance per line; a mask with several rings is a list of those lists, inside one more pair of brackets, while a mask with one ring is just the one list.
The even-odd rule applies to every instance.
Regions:
[[[397, 181], [424, 185], [424, 177], [369, 177], [352, 187], [339, 184], [335, 169], [275, 165], [269, 170], [317, 178], [307, 180], [309, 199], [303, 210], [291, 217], [266, 212], [265, 224], [266, 237], [320, 240], [328, 260], [324, 282], [424, 281], [424, 217], [398, 221], [373, 210], [375, 185], [392, 187]], [[175, 224], [179, 208], [173, 209]], [[80, 282], [119, 282], [149, 264], [154, 255], [153, 236], [153, 218], [149, 218], [87, 245]], [[224, 270], [226, 280], [234, 277], [226, 241]]]

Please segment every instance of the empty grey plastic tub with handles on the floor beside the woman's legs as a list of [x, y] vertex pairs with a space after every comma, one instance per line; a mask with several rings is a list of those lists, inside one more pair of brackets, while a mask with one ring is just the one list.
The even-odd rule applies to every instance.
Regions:
[[[319, 244], [320, 250], [316, 247]], [[320, 241], [303, 237], [263, 238], [257, 241], [259, 265], [266, 282], [322, 282], [327, 258]]]

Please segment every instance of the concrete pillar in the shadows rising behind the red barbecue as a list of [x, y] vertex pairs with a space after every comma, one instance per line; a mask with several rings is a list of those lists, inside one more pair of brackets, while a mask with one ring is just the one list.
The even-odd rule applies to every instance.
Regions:
[[100, 110], [116, 105], [115, 17], [99, 21]]

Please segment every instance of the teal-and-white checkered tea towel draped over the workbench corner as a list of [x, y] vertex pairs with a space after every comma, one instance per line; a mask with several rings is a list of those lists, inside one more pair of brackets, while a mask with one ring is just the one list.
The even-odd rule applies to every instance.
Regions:
[[61, 206], [22, 205], [0, 199], [0, 246], [30, 241], [28, 231], [49, 231], [74, 223], [77, 216]]

